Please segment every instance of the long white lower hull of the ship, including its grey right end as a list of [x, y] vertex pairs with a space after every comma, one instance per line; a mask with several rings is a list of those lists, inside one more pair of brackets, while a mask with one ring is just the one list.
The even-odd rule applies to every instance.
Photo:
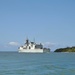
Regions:
[[19, 49], [20, 53], [49, 53], [50, 50], [46, 49]]

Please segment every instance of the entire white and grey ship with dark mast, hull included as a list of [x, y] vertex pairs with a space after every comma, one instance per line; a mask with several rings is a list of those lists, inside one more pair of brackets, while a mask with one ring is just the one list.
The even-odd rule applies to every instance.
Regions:
[[43, 45], [37, 44], [35, 42], [30, 42], [26, 39], [26, 43], [23, 46], [19, 47], [19, 52], [25, 53], [43, 53], [43, 52], [50, 52], [49, 48], [43, 48]]

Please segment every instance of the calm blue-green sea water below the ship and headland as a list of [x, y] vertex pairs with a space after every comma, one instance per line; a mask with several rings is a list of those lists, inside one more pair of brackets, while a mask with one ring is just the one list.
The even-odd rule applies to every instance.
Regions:
[[0, 75], [75, 75], [75, 53], [0, 52]]

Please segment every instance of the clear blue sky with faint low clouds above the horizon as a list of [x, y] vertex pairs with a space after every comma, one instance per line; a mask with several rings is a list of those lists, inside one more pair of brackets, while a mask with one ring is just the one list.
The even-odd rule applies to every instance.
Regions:
[[0, 0], [0, 51], [30, 41], [51, 51], [75, 46], [75, 0]]

